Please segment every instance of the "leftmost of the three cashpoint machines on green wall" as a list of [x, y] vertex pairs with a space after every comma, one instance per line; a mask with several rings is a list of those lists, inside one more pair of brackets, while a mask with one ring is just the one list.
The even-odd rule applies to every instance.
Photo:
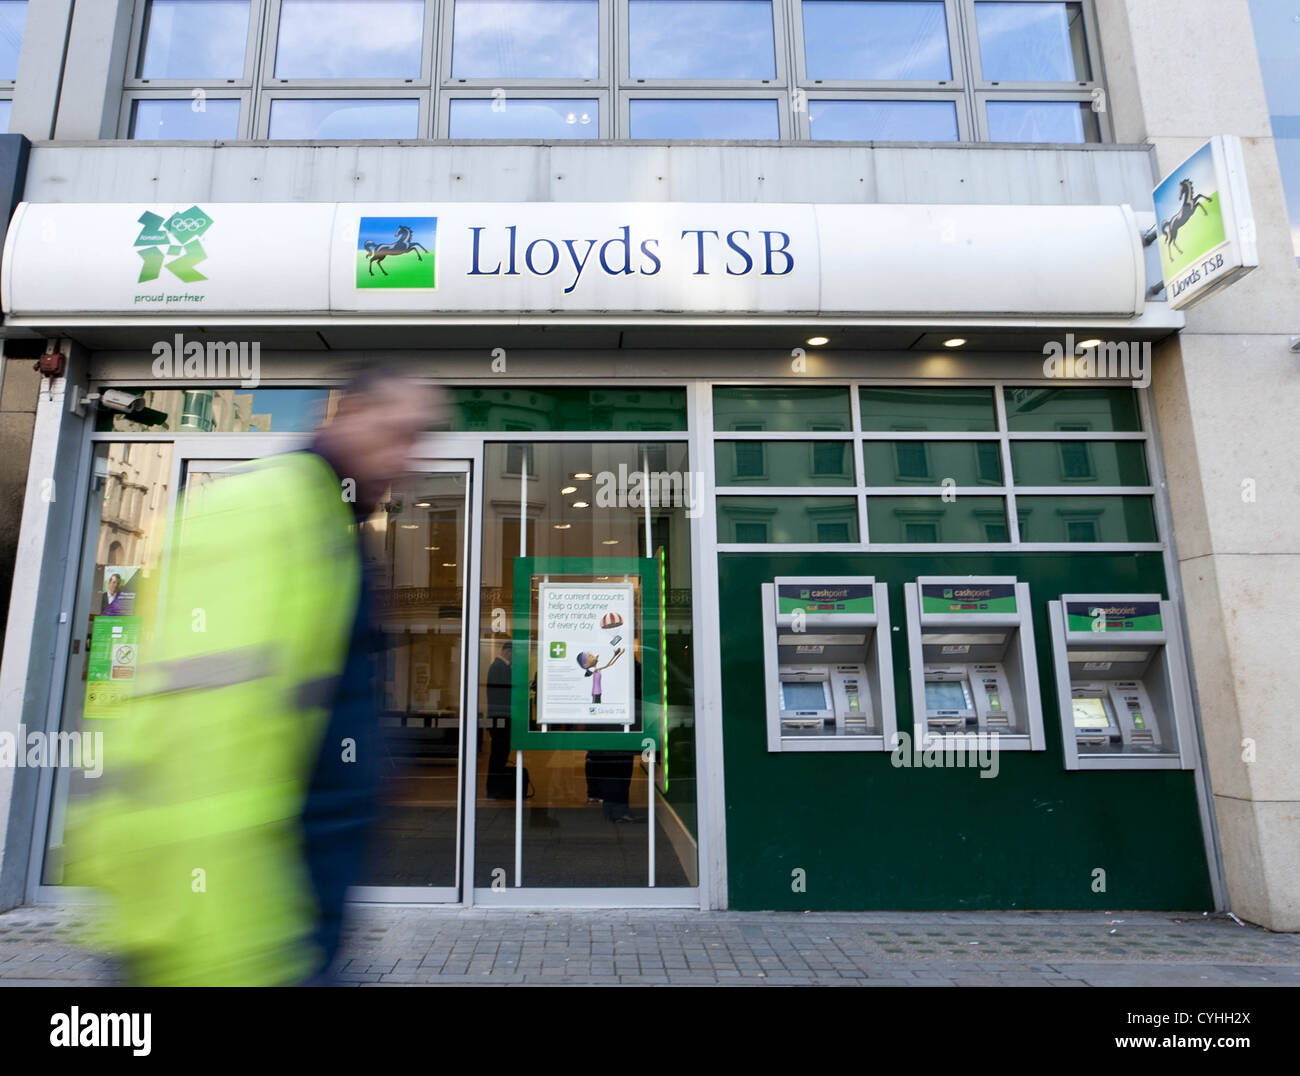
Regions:
[[785, 576], [762, 590], [767, 750], [893, 750], [885, 585]]

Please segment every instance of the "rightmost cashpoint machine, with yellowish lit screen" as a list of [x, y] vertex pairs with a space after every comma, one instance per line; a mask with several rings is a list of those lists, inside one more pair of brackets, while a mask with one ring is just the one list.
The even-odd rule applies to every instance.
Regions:
[[1173, 603], [1062, 594], [1048, 603], [1066, 769], [1192, 769], [1192, 689]]

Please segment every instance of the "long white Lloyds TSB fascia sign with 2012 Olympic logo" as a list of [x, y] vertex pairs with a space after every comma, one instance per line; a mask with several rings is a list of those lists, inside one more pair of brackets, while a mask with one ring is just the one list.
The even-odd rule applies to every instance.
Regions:
[[1143, 312], [1126, 205], [23, 203], [18, 318]]

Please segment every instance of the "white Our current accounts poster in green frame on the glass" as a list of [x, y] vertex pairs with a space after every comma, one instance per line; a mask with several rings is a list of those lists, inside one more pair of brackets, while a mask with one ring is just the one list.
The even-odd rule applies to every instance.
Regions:
[[634, 725], [632, 583], [538, 586], [537, 721]]

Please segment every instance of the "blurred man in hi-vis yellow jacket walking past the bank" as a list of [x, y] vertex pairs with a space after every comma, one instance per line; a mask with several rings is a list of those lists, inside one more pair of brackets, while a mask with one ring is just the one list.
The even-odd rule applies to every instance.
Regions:
[[306, 451], [204, 486], [173, 524], [153, 660], [69, 833], [130, 982], [332, 981], [382, 750], [360, 522], [439, 408], [368, 372]]

